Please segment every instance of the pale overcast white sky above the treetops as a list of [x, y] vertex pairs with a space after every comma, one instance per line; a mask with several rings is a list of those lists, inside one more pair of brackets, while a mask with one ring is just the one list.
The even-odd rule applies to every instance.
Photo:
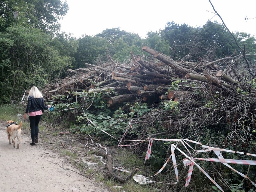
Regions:
[[[231, 32], [256, 36], [255, 0], [211, 2]], [[192, 27], [203, 26], [208, 20], [222, 23], [209, 0], [67, 0], [67, 3], [69, 11], [60, 21], [61, 30], [76, 38], [117, 27], [146, 38], [147, 32], [164, 29], [168, 21]]]

